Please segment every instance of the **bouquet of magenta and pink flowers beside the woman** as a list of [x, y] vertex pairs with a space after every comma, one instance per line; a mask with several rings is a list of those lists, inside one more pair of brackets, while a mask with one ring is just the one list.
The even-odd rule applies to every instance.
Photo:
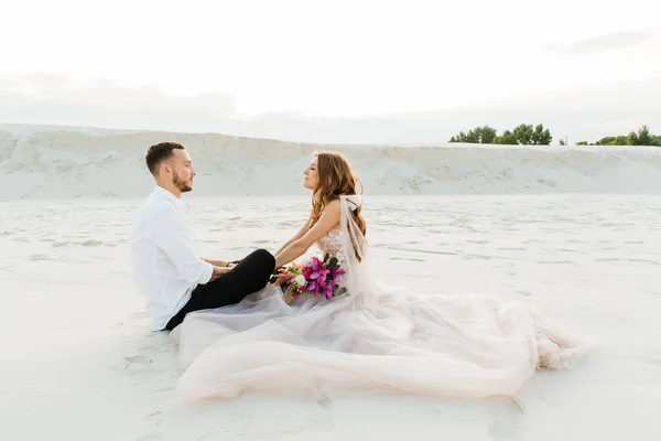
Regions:
[[339, 289], [338, 284], [339, 277], [345, 272], [336, 257], [326, 255], [324, 260], [319, 260], [315, 256], [307, 265], [292, 263], [279, 268], [269, 281], [280, 286], [288, 304], [306, 291], [330, 300], [347, 292], [346, 288]]

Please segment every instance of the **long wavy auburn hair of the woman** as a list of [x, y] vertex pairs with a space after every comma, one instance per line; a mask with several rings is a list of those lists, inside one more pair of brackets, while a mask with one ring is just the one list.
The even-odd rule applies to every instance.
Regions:
[[[360, 194], [362, 194], [362, 182], [351, 172], [351, 166], [340, 152], [322, 151], [314, 154], [317, 159], [317, 187], [312, 195], [312, 211], [310, 216], [310, 227], [317, 223], [324, 208], [333, 201], [338, 200], [340, 195], [358, 194], [357, 184], [360, 184]], [[367, 223], [360, 214], [361, 207], [351, 212], [354, 220], [365, 236], [367, 233]], [[356, 257], [360, 261], [358, 250], [354, 245]]]

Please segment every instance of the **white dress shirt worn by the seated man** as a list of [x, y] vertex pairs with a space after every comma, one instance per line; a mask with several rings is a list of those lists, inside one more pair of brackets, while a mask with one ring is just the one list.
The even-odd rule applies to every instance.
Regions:
[[130, 238], [133, 278], [144, 298], [152, 331], [161, 331], [191, 292], [214, 272], [193, 248], [184, 203], [156, 185], [138, 211]]

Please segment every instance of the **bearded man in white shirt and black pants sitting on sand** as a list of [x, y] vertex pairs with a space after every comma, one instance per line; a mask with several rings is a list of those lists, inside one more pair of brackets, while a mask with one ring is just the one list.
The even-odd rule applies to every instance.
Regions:
[[133, 276], [147, 299], [152, 331], [173, 330], [187, 313], [238, 303], [264, 288], [275, 258], [258, 249], [238, 265], [201, 258], [193, 248], [181, 195], [193, 190], [195, 169], [184, 146], [149, 148], [155, 187], [140, 207], [130, 239]]

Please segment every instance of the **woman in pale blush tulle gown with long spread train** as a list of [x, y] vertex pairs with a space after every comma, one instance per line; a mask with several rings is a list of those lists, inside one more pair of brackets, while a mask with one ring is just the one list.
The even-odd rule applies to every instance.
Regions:
[[317, 153], [305, 170], [310, 218], [275, 252], [281, 267], [316, 244], [337, 257], [347, 293], [292, 301], [274, 283], [237, 305], [189, 314], [176, 330], [182, 392], [511, 396], [535, 369], [565, 367], [586, 349], [524, 303], [424, 295], [375, 280], [357, 183], [339, 153]]

